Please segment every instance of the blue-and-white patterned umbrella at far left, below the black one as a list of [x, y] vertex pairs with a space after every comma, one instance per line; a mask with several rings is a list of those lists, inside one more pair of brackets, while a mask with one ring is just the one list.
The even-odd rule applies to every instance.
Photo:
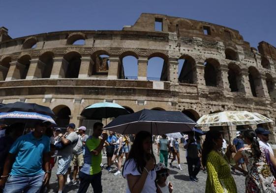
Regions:
[[56, 125], [56, 122], [51, 116], [40, 114], [37, 112], [22, 112], [22, 111], [13, 111], [13, 112], [1, 112], [0, 121], [4, 124], [11, 124], [14, 122], [31, 122], [31, 121], [49, 121], [52, 124]]

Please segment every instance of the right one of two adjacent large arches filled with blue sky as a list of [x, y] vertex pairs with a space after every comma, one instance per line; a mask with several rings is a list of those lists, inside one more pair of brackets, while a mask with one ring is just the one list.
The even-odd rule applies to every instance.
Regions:
[[[160, 66], [162, 66], [161, 70], [160, 70]], [[153, 54], [149, 55], [148, 69], [147, 69], [147, 80], [168, 81], [168, 68], [169, 67], [168, 67], [168, 56], [167, 55], [165, 55], [163, 53], [153, 53]]]

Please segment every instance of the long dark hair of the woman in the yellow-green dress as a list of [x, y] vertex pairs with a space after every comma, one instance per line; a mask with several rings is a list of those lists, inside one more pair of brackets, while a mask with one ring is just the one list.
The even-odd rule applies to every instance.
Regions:
[[202, 165], [206, 166], [207, 156], [214, 149], [214, 141], [213, 139], [218, 139], [221, 136], [219, 131], [210, 130], [206, 133], [205, 140], [202, 145]]

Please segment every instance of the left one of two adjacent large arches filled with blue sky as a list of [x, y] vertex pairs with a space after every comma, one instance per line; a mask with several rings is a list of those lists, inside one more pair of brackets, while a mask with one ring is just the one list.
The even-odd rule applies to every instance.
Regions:
[[124, 52], [119, 56], [121, 62], [121, 79], [138, 79], [138, 55], [132, 51]]

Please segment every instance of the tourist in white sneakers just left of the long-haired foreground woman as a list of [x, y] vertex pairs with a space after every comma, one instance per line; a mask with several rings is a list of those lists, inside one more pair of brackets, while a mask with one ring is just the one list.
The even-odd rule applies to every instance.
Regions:
[[118, 134], [118, 139], [116, 141], [116, 149], [111, 160], [111, 162], [115, 164], [117, 167], [117, 171], [114, 173], [115, 176], [118, 176], [121, 174], [121, 167], [123, 162], [123, 158], [121, 157], [122, 153], [123, 153], [123, 136], [121, 134]]

